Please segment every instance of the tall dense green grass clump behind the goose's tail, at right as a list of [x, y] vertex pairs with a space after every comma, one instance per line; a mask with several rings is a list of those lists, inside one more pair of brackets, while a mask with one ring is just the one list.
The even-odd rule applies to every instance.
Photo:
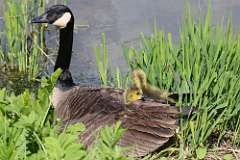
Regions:
[[[207, 15], [198, 19], [191, 16], [188, 6], [178, 42], [173, 43], [171, 33], [154, 26], [151, 36], [140, 35], [140, 49], [125, 48], [132, 70], [142, 68], [148, 81], [162, 89], [192, 93], [187, 105], [198, 109], [197, 114], [180, 121], [178, 141], [160, 155], [174, 150], [180, 159], [199, 158], [226, 141], [239, 146], [240, 34], [233, 32], [231, 20], [227, 25], [213, 25], [211, 18], [211, 6]], [[179, 105], [183, 104], [181, 100]]]

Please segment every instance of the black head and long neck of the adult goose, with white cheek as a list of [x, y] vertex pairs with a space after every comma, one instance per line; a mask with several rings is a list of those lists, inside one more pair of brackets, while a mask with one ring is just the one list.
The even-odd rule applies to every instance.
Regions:
[[72, 86], [73, 79], [69, 66], [72, 56], [74, 16], [65, 5], [54, 5], [42, 15], [35, 17], [32, 23], [52, 24], [60, 29], [60, 42], [54, 71], [61, 68], [62, 74], [58, 78], [61, 84]]

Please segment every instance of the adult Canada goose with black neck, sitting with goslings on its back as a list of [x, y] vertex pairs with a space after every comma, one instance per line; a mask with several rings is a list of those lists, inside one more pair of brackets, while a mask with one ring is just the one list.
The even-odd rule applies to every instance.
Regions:
[[77, 86], [69, 65], [72, 54], [74, 16], [64, 5], [54, 5], [32, 23], [49, 23], [60, 29], [60, 46], [54, 70], [62, 69], [53, 91], [52, 103], [63, 125], [82, 122], [80, 136], [88, 148], [101, 127], [121, 121], [126, 132], [119, 145], [130, 147], [128, 154], [144, 156], [165, 144], [178, 128], [179, 111], [164, 100], [146, 98], [126, 107], [124, 90], [110, 87]]

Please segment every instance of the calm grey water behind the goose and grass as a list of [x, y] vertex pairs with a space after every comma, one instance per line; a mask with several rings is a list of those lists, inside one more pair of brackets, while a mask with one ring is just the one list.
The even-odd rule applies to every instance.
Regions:
[[[206, 13], [208, 0], [192, 0], [191, 3], [195, 16]], [[94, 48], [100, 44], [102, 32], [107, 36], [112, 68], [119, 67], [126, 72], [122, 45], [138, 44], [139, 33], [150, 34], [154, 19], [165, 32], [172, 32], [177, 41], [184, 12], [184, 0], [69, 0], [68, 5], [75, 15], [76, 26], [89, 25], [88, 28], [76, 27], [74, 35], [71, 71], [74, 79], [82, 83], [95, 83], [98, 79]], [[239, 0], [212, 0], [212, 8], [214, 23], [231, 15], [234, 29], [238, 29]], [[0, 20], [0, 27], [1, 23]], [[56, 30], [47, 35], [47, 46], [56, 53]], [[50, 66], [49, 70], [52, 68]]]

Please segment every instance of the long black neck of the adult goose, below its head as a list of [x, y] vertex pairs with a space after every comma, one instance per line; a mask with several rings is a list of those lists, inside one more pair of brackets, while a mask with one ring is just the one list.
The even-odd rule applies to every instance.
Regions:
[[72, 57], [72, 44], [73, 44], [73, 27], [74, 19], [70, 20], [67, 26], [60, 29], [60, 45], [58, 50], [58, 56], [55, 63], [54, 71], [58, 68], [62, 69], [62, 75], [58, 78], [58, 83], [71, 86], [74, 85], [69, 66]]

